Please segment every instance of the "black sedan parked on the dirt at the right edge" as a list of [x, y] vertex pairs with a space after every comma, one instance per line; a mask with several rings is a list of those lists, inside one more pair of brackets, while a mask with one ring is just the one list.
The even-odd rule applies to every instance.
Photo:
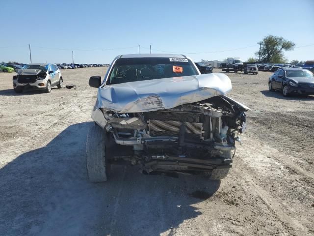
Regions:
[[268, 90], [280, 90], [284, 96], [289, 94], [314, 95], [313, 73], [301, 68], [278, 69], [269, 77]]

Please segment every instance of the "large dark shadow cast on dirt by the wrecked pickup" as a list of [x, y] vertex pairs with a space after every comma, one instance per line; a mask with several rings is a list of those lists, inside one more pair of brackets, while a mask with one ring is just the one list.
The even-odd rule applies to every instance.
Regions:
[[85, 167], [90, 125], [71, 125], [46, 147], [0, 169], [0, 235], [172, 234], [200, 215], [192, 205], [220, 186], [205, 177], [145, 176], [122, 166], [112, 168], [107, 182], [90, 183]]

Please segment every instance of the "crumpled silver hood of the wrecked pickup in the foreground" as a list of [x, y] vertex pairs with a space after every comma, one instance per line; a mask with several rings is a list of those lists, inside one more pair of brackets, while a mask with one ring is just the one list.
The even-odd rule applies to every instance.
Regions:
[[118, 113], [171, 109], [223, 95], [232, 89], [222, 73], [107, 85], [98, 89], [97, 108]]

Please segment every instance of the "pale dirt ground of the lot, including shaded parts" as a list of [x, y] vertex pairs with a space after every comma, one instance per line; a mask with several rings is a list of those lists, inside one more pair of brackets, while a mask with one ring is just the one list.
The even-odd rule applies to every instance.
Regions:
[[[12, 89], [0, 73], [0, 235], [314, 235], [314, 96], [269, 92], [270, 73], [227, 73], [248, 129], [227, 178], [113, 167], [93, 184], [86, 134], [106, 67], [62, 70], [77, 89]], [[221, 73], [219, 69], [215, 72]]]

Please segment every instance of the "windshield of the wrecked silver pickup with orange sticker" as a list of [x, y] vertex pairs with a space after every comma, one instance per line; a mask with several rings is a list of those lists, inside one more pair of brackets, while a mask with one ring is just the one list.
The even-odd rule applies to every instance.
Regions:
[[117, 59], [107, 85], [162, 78], [198, 75], [189, 59], [182, 58], [122, 58]]

